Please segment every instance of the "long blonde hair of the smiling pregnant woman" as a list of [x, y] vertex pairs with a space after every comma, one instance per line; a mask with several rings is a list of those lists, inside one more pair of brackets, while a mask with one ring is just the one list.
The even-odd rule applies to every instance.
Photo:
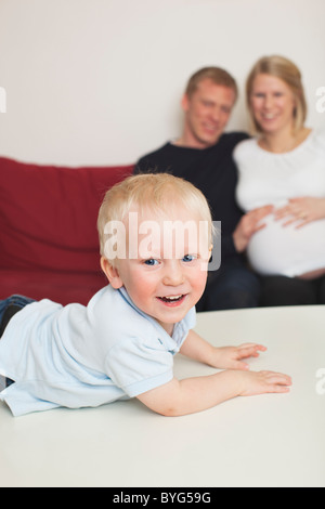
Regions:
[[295, 132], [299, 131], [303, 127], [307, 117], [307, 102], [302, 86], [302, 76], [294, 62], [280, 55], [263, 56], [255, 64], [248, 75], [246, 82], [246, 101], [253, 130], [257, 133], [261, 132], [259, 125], [253, 118], [250, 97], [255, 78], [262, 74], [275, 76], [276, 78], [282, 79], [291, 90], [296, 100], [294, 130]]

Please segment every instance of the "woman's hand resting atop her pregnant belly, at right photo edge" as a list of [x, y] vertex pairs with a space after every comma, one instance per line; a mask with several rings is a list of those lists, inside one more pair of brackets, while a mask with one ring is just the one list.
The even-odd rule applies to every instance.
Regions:
[[297, 229], [301, 229], [308, 223], [325, 218], [325, 198], [291, 198], [285, 207], [274, 212], [276, 220], [288, 218], [283, 226], [288, 226], [297, 222]]

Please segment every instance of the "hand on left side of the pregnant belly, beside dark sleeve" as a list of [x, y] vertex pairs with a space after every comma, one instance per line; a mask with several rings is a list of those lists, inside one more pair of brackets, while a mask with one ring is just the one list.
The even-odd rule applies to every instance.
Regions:
[[243, 216], [233, 233], [234, 245], [237, 252], [245, 251], [252, 235], [265, 227], [265, 224], [260, 222], [272, 213], [273, 209], [273, 205], [265, 205], [264, 207], [250, 210]]

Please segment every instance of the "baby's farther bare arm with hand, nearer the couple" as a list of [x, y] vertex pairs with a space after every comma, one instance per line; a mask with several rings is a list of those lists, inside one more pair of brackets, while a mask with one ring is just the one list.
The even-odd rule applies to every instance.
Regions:
[[249, 369], [248, 364], [242, 362], [242, 360], [258, 357], [258, 352], [264, 352], [265, 350], [265, 347], [256, 343], [216, 348], [194, 330], [190, 330], [180, 352], [187, 357], [219, 369]]

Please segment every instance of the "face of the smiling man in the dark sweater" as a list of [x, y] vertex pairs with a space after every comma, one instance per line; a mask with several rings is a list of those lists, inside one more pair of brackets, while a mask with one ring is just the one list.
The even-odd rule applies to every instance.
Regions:
[[185, 113], [182, 145], [192, 148], [214, 145], [230, 119], [235, 100], [235, 92], [229, 87], [210, 79], [202, 80], [191, 97], [184, 95], [182, 100]]

